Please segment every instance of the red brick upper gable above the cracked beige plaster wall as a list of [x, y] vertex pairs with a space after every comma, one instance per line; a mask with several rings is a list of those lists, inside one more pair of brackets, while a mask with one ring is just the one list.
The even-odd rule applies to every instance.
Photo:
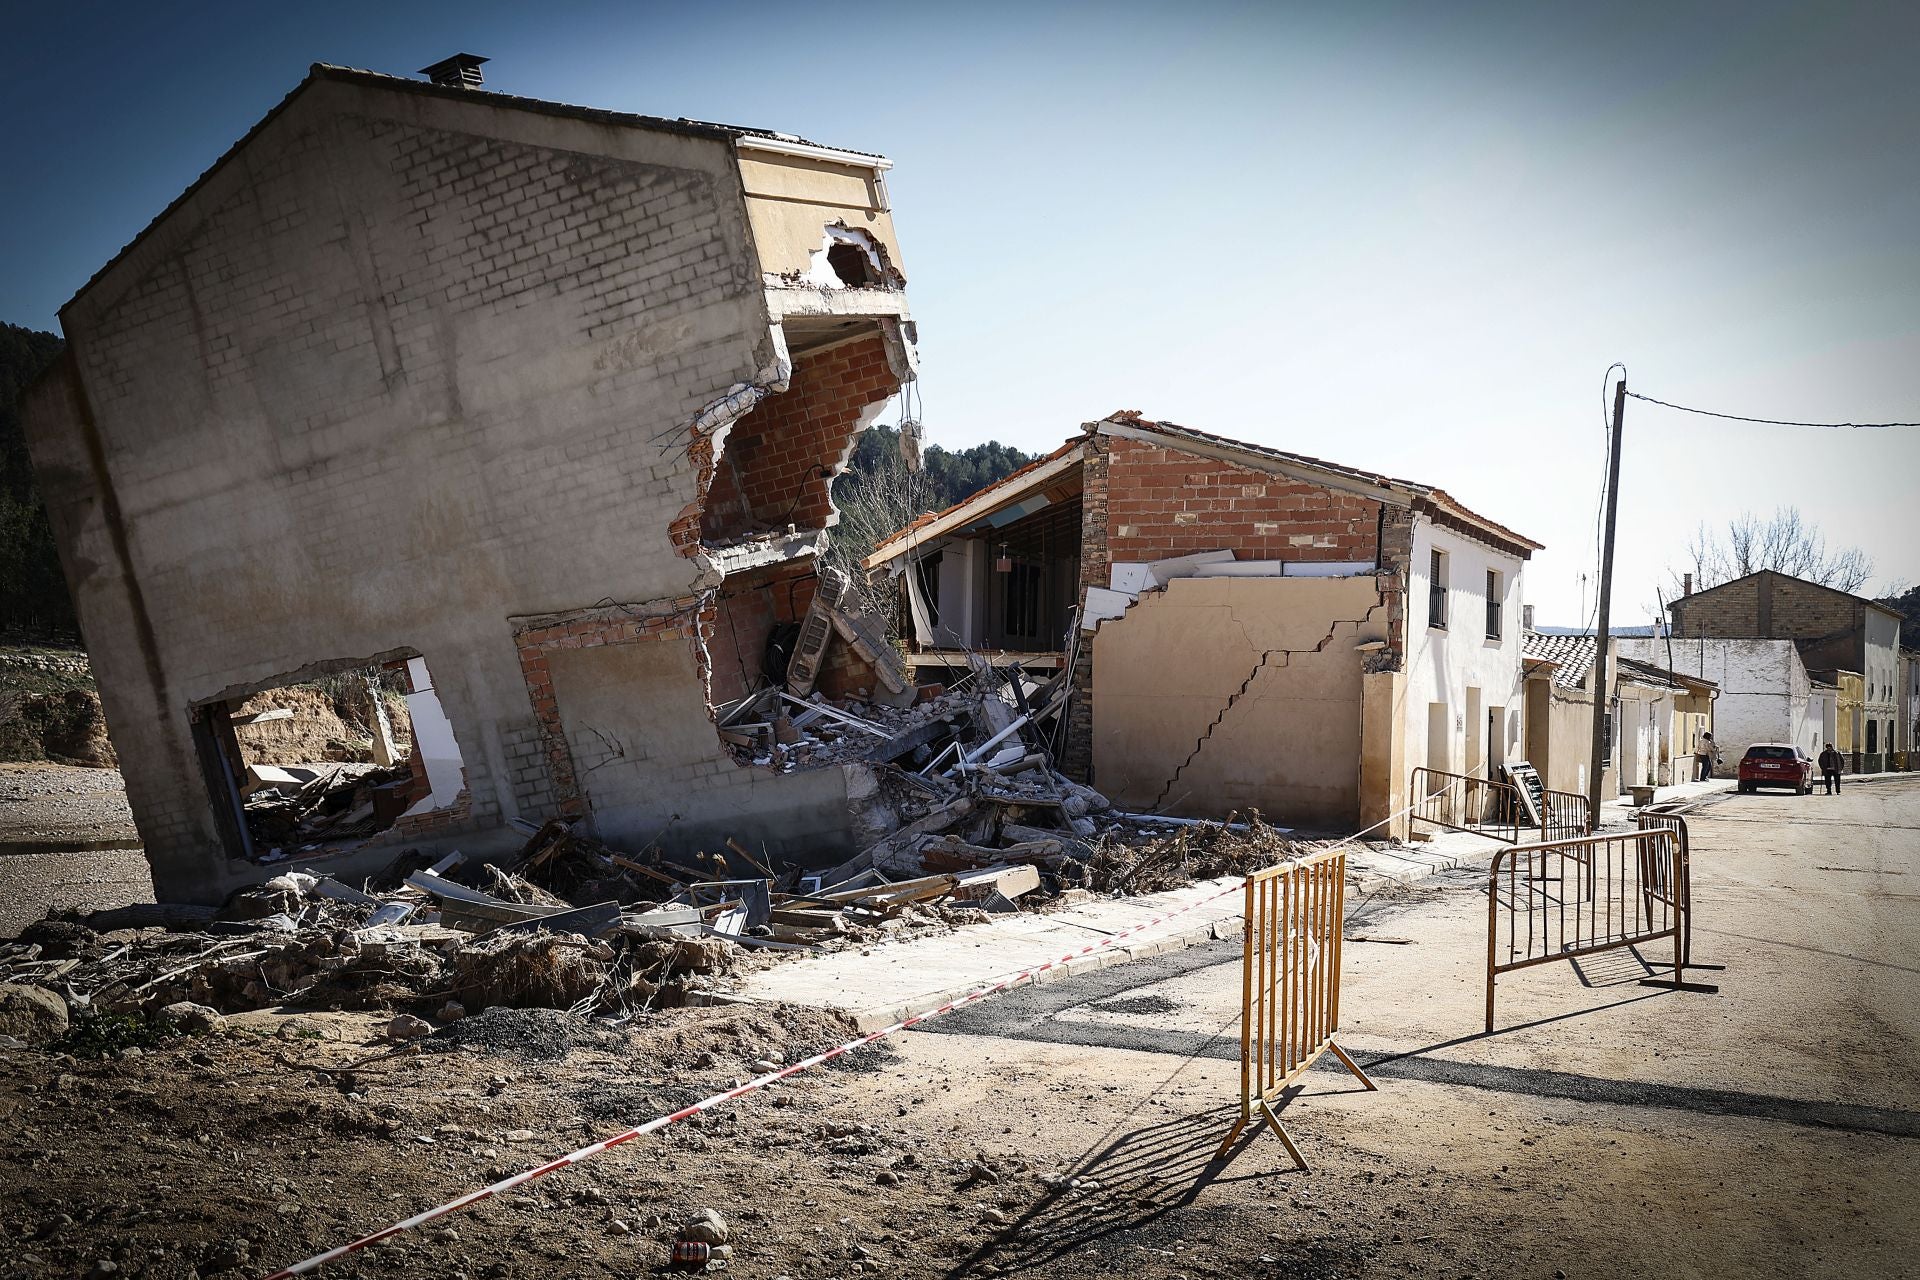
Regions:
[[[1380, 503], [1137, 439], [1110, 439], [1108, 553], [1165, 560], [1373, 560]], [[1102, 578], [1102, 583], [1106, 580]]]

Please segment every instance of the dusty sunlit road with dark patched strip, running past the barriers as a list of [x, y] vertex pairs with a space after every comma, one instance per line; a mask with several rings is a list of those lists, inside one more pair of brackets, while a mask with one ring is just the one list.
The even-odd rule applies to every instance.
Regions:
[[[1344, 1274], [1912, 1274], [1920, 779], [1728, 794], [1690, 823], [1693, 954], [1726, 965], [1693, 977], [1718, 994], [1642, 986], [1665, 944], [1605, 952], [1503, 975], [1482, 1034], [1484, 875], [1361, 904], [1350, 936], [1400, 938], [1346, 948], [1342, 1040], [1380, 1088], [1336, 1063], [1308, 1077], [1284, 1117], [1313, 1174], [1265, 1136], [1210, 1163], [1236, 1098], [1231, 942], [931, 1023], [876, 1088], [920, 1080], [937, 1092], [902, 1113], [981, 1125], [983, 1107], [1037, 1151], [1077, 1146], [1083, 1171], [1133, 1151], [1127, 1176], [1181, 1184], [1162, 1205], [1202, 1215], [1219, 1274], [1265, 1274], [1238, 1253], [1327, 1222]], [[1140, 1161], [1140, 1134], [1165, 1130], [1142, 1117], [1183, 1111], [1177, 1150], [1156, 1136]], [[1108, 1226], [1104, 1247], [1165, 1234], [1158, 1215]], [[1035, 1274], [1077, 1272], [1064, 1253]]]

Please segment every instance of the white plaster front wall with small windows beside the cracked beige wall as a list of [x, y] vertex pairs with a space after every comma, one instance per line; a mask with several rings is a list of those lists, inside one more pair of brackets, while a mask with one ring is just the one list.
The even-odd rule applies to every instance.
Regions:
[[[1448, 628], [1427, 626], [1432, 551], [1448, 555]], [[1500, 641], [1486, 639], [1486, 570], [1503, 574]], [[1524, 754], [1526, 697], [1521, 683], [1521, 603], [1524, 560], [1494, 551], [1425, 516], [1413, 522], [1407, 572], [1407, 679], [1400, 714], [1407, 770], [1427, 760], [1427, 706], [1446, 702], [1452, 718], [1448, 771], [1465, 771], [1467, 733], [1486, 733], [1486, 708], [1505, 708], [1505, 758]], [[1467, 725], [1467, 689], [1480, 691], [1478, 723]], [[1486, 770], [1482, 762], [1482, 771]]]

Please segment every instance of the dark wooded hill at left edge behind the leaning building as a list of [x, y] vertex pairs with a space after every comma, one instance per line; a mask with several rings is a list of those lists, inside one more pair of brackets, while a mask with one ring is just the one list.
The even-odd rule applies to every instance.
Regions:
[[61, 345], [54, 334], [0, 324], [0, 631], [77, 629], [19, 428], [21, 391]]

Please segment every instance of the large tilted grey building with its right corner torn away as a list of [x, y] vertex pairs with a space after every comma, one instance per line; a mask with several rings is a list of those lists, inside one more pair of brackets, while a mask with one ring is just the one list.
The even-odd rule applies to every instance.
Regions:
[[[710, 706], [914, 376], [887, 167], [317, 65], [67, 303], [27, 434], [163, 898], [516, 818], [849, 848], [870, 779], [751, 768]], [[348, 672], [409, 702], [397, 794], [265, 848], [232, 720]]]

